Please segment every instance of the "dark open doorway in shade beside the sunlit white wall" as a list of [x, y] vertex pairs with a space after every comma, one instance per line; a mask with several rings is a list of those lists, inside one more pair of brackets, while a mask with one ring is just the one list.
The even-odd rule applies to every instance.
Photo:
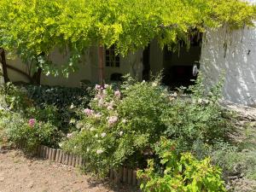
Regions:
[[179, 51], [173, 52], [167, 46], [164, 48], [163, 84], [171, 88], [195, 84], [193, 80], [197, 78], [197, 70], [200, 68], [201, 41], [202, 36], [199, 33], [196, 37], [191, 36], [189, 49], [182, 41]]

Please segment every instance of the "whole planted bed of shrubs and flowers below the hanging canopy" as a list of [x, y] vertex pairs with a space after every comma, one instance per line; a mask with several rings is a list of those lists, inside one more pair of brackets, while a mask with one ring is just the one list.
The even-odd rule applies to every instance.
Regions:
[[143, 191], [254, 191], [255, 130], [237, 128], [236, 113], [221, 107], [221, 84], [206, 92], [200, 75], [187, 95], [160, 77], [72, 91], [6, 84], [1, 143], [25, 142], [31, 155], [39, 145], [61, 148], [86, 158], [83, 169], [100, 178], [135, 169]]

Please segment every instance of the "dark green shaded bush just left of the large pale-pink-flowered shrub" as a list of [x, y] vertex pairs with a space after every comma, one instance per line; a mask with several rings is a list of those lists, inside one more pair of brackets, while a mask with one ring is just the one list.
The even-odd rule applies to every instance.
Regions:
[[[47, 85], [27, 85], [27, 96], [36, 106], [38, 118], [48, 118], [61, 131], [73, 129], [70, 121], [79, 119], [75, 109], [87, 108], [91, 99], [91, 90]], [[39, 108], [39, 110], [38, 110]], [[49, 113], [46, 117], [44, 114]], [[40, 116], [42, 114], [43, 116]]]

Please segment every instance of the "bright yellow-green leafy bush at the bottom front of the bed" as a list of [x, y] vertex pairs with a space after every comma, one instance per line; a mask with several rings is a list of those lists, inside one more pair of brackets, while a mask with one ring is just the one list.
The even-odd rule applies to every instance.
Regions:
[[192, 154], [178, 154], [175, 143], [165, 137], [156, 144], [155, 151], [161, 170], [157, 170], [154, 160], [148, 160], [148, 168], [138, 172], [143, 191], [226, 191], [220, 170], [211, 166], [209, 158], [196, 160]]

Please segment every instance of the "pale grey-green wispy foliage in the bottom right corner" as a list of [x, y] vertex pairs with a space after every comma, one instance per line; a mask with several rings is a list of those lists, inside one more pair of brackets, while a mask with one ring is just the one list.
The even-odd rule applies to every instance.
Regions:
[[222, 167], [230, 191], [253, 192], [256, 190], [255, 124], [249, 123], [239, 130], [242, 132], [233, 143], [219, 143], [208, 154], [215, 165]]

